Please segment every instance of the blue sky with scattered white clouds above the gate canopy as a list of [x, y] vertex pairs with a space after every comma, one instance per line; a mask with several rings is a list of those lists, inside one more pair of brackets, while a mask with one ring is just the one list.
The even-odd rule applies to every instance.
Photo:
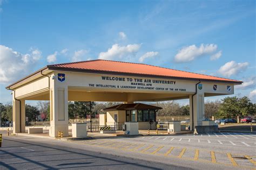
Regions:
[[98, 58], [242, 80], [235, 94], [255, 103], [255, 6], [0, 0], [0, 103], [11, 101], [6, 85], [45, 65]]

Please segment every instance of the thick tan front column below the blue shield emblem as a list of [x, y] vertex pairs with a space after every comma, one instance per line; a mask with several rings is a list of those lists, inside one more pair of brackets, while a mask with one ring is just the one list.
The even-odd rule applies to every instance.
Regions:
[[68, 87], [54, 86], [50, 89], [50, 136], [69, 135]]

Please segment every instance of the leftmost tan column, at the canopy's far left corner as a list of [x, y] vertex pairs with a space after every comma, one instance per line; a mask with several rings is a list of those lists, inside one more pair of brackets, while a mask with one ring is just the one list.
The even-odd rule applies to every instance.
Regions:
[[12, 100], [13, 133], [25, 132], [25, 100]]

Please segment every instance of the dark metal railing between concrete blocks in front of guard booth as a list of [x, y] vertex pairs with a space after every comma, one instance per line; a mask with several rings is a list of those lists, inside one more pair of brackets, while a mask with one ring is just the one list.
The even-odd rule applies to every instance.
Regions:
[[87, 126], [87, 132], [98, 132], [98, 131], [126, 131], [126, 125]]

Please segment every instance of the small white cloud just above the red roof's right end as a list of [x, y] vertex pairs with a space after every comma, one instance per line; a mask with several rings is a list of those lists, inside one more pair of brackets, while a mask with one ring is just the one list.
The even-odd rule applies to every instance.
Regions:
[[234, 74], [238, 74], [247, 69], [249, 63], [236, 63], [235, 61], [227, 62], [220, 67], [218, 72], [226, 77], [230, 77]]

